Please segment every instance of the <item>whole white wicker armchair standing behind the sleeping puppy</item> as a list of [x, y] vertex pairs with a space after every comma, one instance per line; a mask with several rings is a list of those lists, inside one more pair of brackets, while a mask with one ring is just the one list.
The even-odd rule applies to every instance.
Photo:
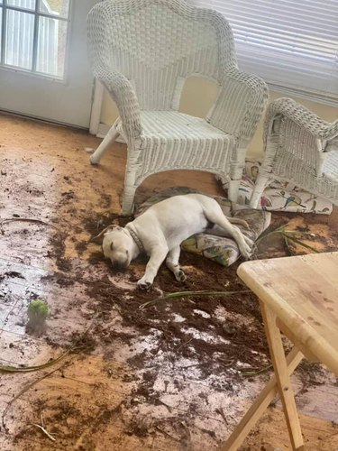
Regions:
[[[224, 17], [181, 0], [105, 0], [88, 14], [87, 30], [94, 75], [120, 113], [91, 162], [98, 163], [123, 136], [128, 145], [123, 214], [132, 212], [142, 180], [163, 170], [226, 175], [235, 201], [267, 87], [237, 68]], [[191, 75], [212, 78], [220, 87], [206, 120], [178, 113]]]

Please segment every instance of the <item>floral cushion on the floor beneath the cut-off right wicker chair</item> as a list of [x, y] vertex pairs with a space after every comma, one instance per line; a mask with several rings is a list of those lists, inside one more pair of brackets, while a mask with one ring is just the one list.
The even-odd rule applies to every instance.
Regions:
[[[242, 177], [238, 204], [248, 206], [251, 193], [258, 176], [260, 161], [247, 160], [245, 172]], [[221, 176], [216, 176], [220, 180], [224, 189], [228, 188], [228, 180]], [[333, 204], [315, 194], [310, 194], [304, 189], [290, 182], [272, 180], [264, 190], [260, 198], [260, 207], [269, 211], [290, 211], [297, 213], [320, 213], [330, 215], [333, 211]]]

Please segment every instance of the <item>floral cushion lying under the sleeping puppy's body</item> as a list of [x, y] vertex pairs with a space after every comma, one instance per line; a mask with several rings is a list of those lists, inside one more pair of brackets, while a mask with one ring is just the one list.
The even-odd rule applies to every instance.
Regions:
[[[142, 203], [140, 207], [136, 208], [135, 216], [141, 215], [151, 205], [170, 198], [172, 196], [178, 196], [181, 194], [198, 193], [196, 189], [189, 189], [186, 187], [169, 188], [160, 191], [148, 200]], [[211, 196], [220, 204], [224, 215], [231, 216], [231, 203], [227, 198], [220, 198]], [[244, 219], [249, 229], [239, 226], [244, 235], [255, 241], [260, 234], [269, 226], [271, 214], [266, 211], [253, 210], [253, 209], [241, 209], [236, 211], [233, 216]], [[189, 253], [196, 253], [202, 255], [208, 259], [214, 260], [224, 266], [230, 266], [233, 262], [236, 262], [241, 256], [241, 253], [237, 247], [237, 244], [231, 238], [226, 238], [221, 235], [209, 235], [209, 234], [197, 234], [190, 236], [182, 243], [182, 248]]]

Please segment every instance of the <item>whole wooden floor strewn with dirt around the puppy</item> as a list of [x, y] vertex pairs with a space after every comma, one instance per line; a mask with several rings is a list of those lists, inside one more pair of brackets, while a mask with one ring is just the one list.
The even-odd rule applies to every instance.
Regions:
[[[53, 127], [34, 124], [34, 131], [46, 142], [55, 138]], [[0, 214], [11, 221], [0, 231], [1, 363], [25, 367], [67, 354], [39, 372], [0, 374], [2, 449], [215, 449], [271, 371], [258, 300], [236, 275], [240, 262], [224, 268], [182, 253], [187, 281], [162, 266], [151, 290], [138, 290], [146, 259], [114, 272], [90, 242], [105, 226], [128, 220], [117, 213], [123, 166], [113, 184], [105, 167], [88, 175], [87, 136], [63, 129], [58, 136], [57, 153], [47, 143], [36, 149], [33, 138], [15, 149], [9, 138], [5, 143], [11, 152], [2, 161]], [[123, 152], [112, 157], [117, 166]], [[159, 190], [154, 186], [142, 187], [138, 202]], [[307, 247], [273, 233], [281, 225]], [[336, 250], [338, 242], [327, 218], [306, 215], [274, 214], [265, 235], [255, 258]], [[196, 290], [224, 296], [166, 298]], [[33, 299], [50, 307], [38, 332], [26, 328]], [[295, 384], [305, 415], [317, 416], [315, 392], [330, 393], [320, 418], [334, 421], [332, 374], [302, 364]], [[260, 449], [252, 437], [244, 449]]]

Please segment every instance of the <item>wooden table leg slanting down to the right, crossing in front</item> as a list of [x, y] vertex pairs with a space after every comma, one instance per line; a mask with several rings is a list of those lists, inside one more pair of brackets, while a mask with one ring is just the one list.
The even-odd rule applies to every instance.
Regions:
[[265, 332], [269, 343], [269, 352], [279, 386], [279, 396], [288, 425], [288, 434], [292, 449], [302, 449], [304, 441], [300, 429], [297, 407], [291, 381], [288, 374], [288, 364], [284, 354], [279, 327], [276, 324], [276, 315], [260, 300], [261, 315], [264, 320]]

